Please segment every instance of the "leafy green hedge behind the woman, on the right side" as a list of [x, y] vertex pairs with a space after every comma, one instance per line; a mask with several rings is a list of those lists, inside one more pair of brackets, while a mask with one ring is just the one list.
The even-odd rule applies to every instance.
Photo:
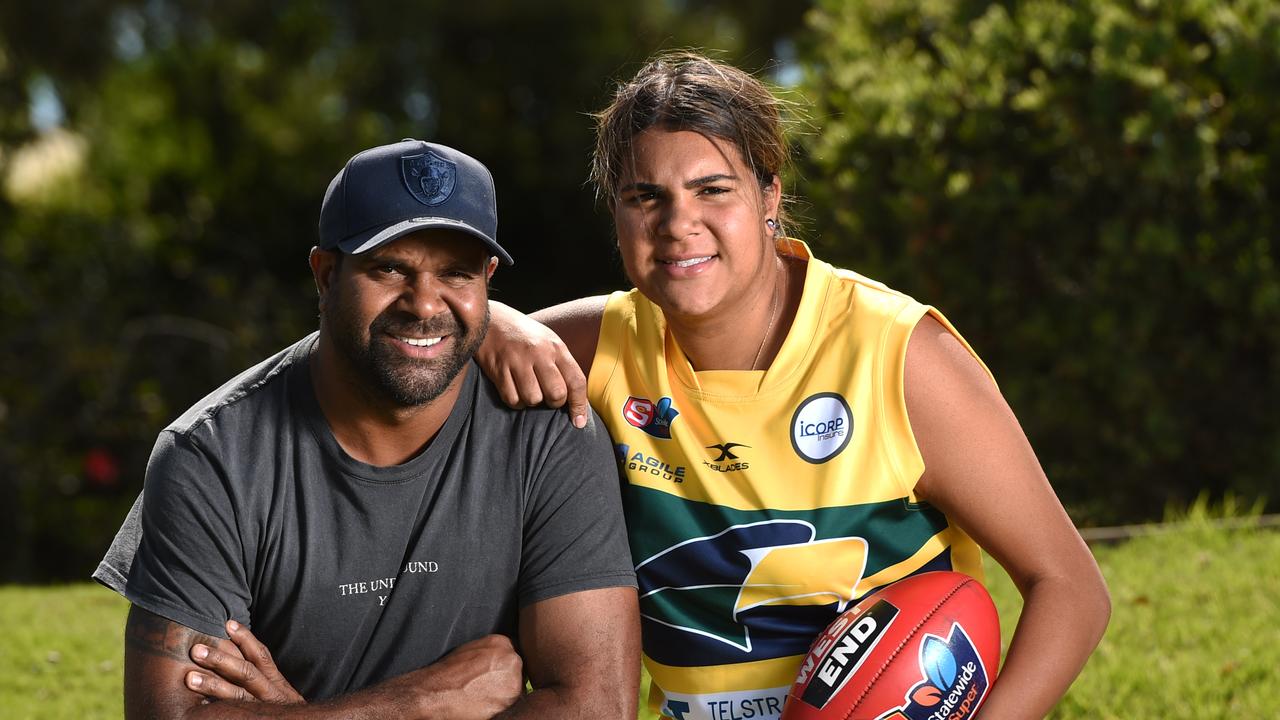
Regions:
[[819, 0], [803, 195], [937, 305], [1078, 521], [1280, 483], [1280, 4]]

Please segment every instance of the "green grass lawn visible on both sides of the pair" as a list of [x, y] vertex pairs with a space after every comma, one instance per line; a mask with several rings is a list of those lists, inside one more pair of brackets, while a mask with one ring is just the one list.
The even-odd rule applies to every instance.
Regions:
[[[1277, 715], [1280, 532], [1193, 521], [1096, 555], [1111, 626], [1053, 717]], [[1007, 642], [1018, 593], [998, 568], [988, 573]], [[0, 588], [0, 715], [119, 717], [125, 610], [88, 583]]]

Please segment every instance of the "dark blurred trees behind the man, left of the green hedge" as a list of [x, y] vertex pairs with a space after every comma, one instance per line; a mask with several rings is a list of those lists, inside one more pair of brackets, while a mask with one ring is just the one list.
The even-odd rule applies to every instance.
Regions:
[[623, 283], [586, 113], [659, 47], [760, 69], [805, 4], [0, 5], [0, 580], [83, 578], [156, 433], [315, 327], [353, 152], [454, 145], [498, 186], [518, 307]]

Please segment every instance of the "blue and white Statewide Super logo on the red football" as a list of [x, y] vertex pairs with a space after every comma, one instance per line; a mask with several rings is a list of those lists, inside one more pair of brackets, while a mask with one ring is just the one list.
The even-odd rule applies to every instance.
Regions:
[[906, 692], [905, 705], [878, 720], [966, 720], [991, 684], [978, 650], [959, 623], [951, 625], [946, 639], [924, 635], [920, 674], [924, 679]]

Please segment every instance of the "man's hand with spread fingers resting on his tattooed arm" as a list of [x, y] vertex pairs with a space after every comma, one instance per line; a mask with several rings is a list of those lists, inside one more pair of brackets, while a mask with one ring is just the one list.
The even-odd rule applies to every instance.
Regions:
[[239, 656], [202, 643], [191, 646], [191, 660], [209, 670], [187, 673], [187, 687], [212, 700], [241, 700], [294, 705], [306, 702], [271, 659], [271, 651], [236, 620], [227, 621], [227, 634]]

